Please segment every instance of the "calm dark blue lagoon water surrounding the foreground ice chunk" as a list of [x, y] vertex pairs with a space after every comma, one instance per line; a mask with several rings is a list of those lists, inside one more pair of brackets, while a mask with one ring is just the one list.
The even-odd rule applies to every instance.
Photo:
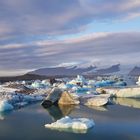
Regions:
[[[40, 103], [0, 114], [0, 140], [140, 140], [140, 100], [117, 99], [106, 107], [52, 106]], [[85, 134], [50, 130], [46, 123], [61, 117], [87, 117], [95, 126]]]

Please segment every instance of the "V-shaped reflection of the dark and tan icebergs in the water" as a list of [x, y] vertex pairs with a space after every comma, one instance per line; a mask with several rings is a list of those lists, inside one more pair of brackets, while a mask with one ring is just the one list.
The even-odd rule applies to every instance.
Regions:
[[74, 110], [74, 108], [74, 105], [53, 105], [45, 109], [48, 112], [48, 114], [52, 117], [52, 119], [56, 121], [64, 116], [68, 116], [71, 113], [71, 111]]

